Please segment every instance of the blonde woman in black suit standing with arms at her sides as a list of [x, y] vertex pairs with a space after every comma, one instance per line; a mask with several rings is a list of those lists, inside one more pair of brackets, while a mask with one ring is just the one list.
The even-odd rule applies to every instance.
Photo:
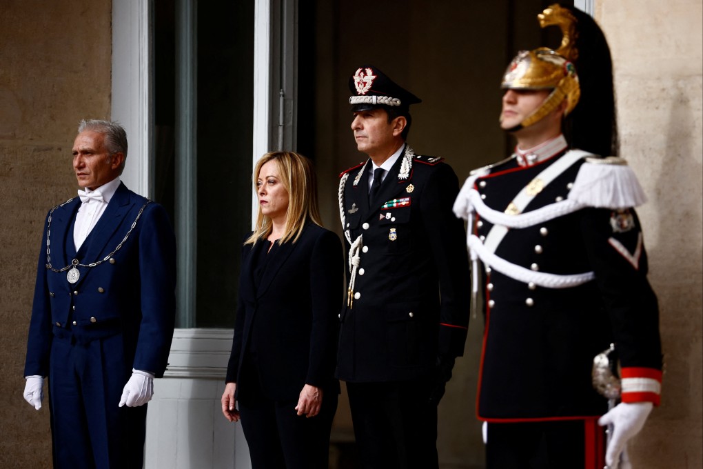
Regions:
[[321, 226], [310, 160], [266, 153], [253, 179], [259, 214], [242, 250], [222, 413], [241, 419], [254, 469], [327, 468], [342, 244]]

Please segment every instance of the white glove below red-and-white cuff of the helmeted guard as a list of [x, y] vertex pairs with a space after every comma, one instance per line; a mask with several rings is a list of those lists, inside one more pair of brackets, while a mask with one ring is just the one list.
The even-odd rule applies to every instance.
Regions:
[[[626, 450], [629, 439], [637, 435], [645, 420], [650, 415], [654, 404], [651, 402], [621, 402], [614, 406], [608, 413], [598, 419], [598, 425], [612, 424], [612, 435], [605, 451], [605, 463], [612, 469], [618, 469], [620, 455]], [[620, 469], [629, 467], [629, 461], [624, 461]]]

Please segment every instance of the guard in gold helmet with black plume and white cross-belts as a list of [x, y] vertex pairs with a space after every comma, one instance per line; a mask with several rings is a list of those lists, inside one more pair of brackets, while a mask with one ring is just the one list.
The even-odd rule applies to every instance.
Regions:
[[[564, 39], [556, 51], [518, 53], [505, 72], [501, 127], [515, 152], [472, 172], [454, 205], [469, 224], [474, 293], [483, 280], [477, 413], [487, 467], [624, 468], [662, 380], [657, 297], [633, 209], [645, 197], [613, 156], [600, 28], [558, 5], [538, 19]], [[611, 344], [621, 379], [606, 384], [621, 403], [609, 410], [591, 372]]]

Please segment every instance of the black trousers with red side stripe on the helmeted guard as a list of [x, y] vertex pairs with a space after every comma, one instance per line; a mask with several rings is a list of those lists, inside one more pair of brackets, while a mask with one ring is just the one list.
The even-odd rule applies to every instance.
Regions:
[[487, 469], [602, 469], [605, 430], [595, 419], [489, 423]]

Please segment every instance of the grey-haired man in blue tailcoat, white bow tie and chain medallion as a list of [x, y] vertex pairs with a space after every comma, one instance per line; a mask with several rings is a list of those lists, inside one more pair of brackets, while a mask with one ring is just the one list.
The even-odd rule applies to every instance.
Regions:
[[24, 395], [39, 410], [49, 378], [55, 468], [137, 469], [173, 337], [174, 233], [163, 207], [120, 182], [124, 129], [89, 120], [78, 132], [83, 190], [46, 217]]

